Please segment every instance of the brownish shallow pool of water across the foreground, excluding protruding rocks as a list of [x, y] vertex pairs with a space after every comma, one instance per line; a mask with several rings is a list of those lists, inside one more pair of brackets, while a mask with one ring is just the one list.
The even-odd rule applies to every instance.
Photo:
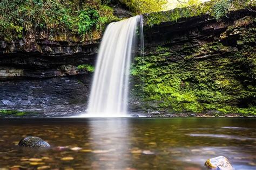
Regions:
[[[256, 169], [255, 118], [3, 118], [0, 129], [0, 169], [196, 170], [219, 155]], [[52, 148], [17, 147], [25, 136]]]

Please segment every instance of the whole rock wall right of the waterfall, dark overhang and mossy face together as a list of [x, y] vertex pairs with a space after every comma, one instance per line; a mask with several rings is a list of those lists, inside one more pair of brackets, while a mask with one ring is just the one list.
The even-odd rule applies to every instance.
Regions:
[[256, 114], [253, 10], [145, 26], [131, 110]]

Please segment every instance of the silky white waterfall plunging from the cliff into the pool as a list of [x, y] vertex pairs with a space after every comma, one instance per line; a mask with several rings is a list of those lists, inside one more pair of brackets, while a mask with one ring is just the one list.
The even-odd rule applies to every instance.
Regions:
[[126, 117], [129, 72], [140, 16], [111, 23], [100, 44], [86, 117]]

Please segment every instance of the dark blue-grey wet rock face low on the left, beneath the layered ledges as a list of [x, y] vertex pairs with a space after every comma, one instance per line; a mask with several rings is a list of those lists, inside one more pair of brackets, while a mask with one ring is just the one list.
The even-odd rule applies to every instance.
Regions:
[[50, 112], [58, 105], [68, 109], [69, 105], [79, 103], [82, 107], [89, 97], [90, 79], [77, 75], [0, 81], [0, 107], [38, 112]]

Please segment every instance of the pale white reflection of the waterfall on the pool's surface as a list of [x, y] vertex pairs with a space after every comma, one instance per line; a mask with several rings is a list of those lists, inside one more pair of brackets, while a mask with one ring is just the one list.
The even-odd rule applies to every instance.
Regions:
[[93, 119], [89, 122], [92, 167], [125, 169], [129, 167], [130, 119]]

